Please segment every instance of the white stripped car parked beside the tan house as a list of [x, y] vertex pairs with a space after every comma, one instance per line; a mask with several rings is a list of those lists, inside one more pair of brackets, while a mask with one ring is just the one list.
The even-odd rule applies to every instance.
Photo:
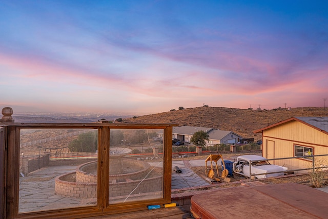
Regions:
[[[283, 175], [283, 171], [287, 171], [287, 167], [270, 164], [266, 158], [258, 155], [242, 155], [237, 157], [237, 161], [232, 164], [233, 171], [237, 174], [250, 177], [250, 161], [252, 161], [252, 174], [271, 173], [255, 175], [256, 178], [268, 178]], [[276, 173], [278, 172], [278, 173]]]

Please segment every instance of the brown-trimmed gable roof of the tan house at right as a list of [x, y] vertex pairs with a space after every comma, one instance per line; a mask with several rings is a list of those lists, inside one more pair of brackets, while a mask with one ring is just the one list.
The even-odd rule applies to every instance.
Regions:
[[318, 131], [328, 134], [328, 117], [292, 117], [289, 118], [288, 120], [283, 120], [271, 126], [267, 126], [262, 129], [255, 130], [254, 133], [262, 132], [263, 130], [270, 129], [285, 123], [289, 123], [291, 121], [298, 121], [314, 129], [317, 129]]

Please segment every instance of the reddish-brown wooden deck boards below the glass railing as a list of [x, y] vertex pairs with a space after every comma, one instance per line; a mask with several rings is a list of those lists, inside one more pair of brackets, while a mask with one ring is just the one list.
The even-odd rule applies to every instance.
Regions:
[[165, 218], [165, 219], [177, 219], [177, 218], [194, 218], [191, 213], [183, 209], [182, 207], [172, 207], [172, 208], [159, 208], [153, 210], [143, 210], [130, 213], [121, 213], [106, 216], [96, 216], [88, 217], [88, 219], [155, 219], [155, 218]]

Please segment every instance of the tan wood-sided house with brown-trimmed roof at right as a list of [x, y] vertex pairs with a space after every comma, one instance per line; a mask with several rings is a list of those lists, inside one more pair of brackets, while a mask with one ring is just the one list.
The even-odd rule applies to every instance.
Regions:
[[[328, 154], [328, 117], [292, 117], [254, 131], [258, 132], [262, 132], [264, 157], [272, 159], [300, 156], [271, 162], [291, 170], [312, 166], [312, 157], [301, 156]], [[328, 156], [316, 159], [324, 163]]]

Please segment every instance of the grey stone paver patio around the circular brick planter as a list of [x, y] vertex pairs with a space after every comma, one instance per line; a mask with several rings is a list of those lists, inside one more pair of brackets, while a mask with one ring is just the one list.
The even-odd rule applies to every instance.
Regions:
[[[158, 163], [150, 164], [156, 166]], [[198, 164], [193, 161], [193, 165], [197, 166]], [[188, 168], [191, 167], [188, 161], [172, 162], [172, 168], [174, 166], [178, 166], [182, 173], [172, 173], [172, 189], [210, 185]], [[94, 200], [81, 200], [55, 194], [56, 176], [74, 172], [75, 168], [76, 166], [47, 167], [29, 173], [28, 176], [20, 177], [19, 213], [95, 205]]]

